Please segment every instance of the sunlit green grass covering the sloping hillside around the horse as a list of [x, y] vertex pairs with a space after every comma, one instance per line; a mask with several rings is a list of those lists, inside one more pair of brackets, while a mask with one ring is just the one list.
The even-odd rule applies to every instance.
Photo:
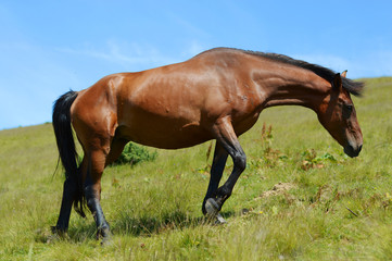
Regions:
[[[392, 78], [365, 80], [364, 97], [354, 98], [364, 134], [356, 159], [307, 109], [262, 113], [240, 138], [248, 167], [224, 206], [225, 226], [201, 213], [211, 142], [148, 148], [154, 161], [108, 167], [102, 208], [114, 236], [106, 247], [94, 239], [92, 216], [75, 212], [68, 237], [51, 240], [64, 178], [53, 175], [51, 125], [1, 130], [0, 260], [392, 259]], [[293, 187], [263, 197], [279, 182]]]

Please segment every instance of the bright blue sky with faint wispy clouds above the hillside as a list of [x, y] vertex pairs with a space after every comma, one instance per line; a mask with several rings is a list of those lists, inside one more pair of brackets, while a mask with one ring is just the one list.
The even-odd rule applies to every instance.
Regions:
[[108, 74], [214, 47], [392, 76], [392, 1], [0, 0], [0, 129], [50, 122], [59, 96]]

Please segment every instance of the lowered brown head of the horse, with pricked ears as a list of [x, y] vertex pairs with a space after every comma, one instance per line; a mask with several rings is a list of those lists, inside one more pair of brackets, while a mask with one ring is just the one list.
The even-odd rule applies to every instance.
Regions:
[[[342, 76], [345, 77], [345, 72]], [[330, 92], [318, 108], [318, 120], [344, 148], [347, 156], [357, 157], [362, 149], [363, 137], [354, 103], [349, 91], [343, 88], [340, 74], [334, 76], [331, 85]]]

